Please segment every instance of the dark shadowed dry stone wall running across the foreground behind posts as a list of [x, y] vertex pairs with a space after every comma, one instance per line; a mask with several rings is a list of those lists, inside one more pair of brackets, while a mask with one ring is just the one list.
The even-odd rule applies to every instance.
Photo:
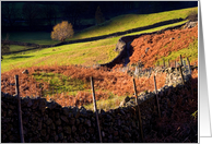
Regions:
[[[156, 71], [156, 70], [155, 70]], [[157, 71], [165, 71], [164, 69]], [[189, 75], [185, 75], [186, 80]], [[169, 83], [169, 81], [167, 82]], [[167, 98], [174, 105], [182, 85], [164, 86], [158, 89], [163, 111], [168, 107]], [[175, 95], [173, 95], [175, 93]], [[144, 137], [155, 125], [158, 117], [155, 94], [139, 95]], [[45, 98], [23, 97], [21, 99], [25, 142], [99, 142], [95, 113], [85, 108], [61, 107]], [[17, 96], [1, 93], [1, 142], [21, 142], [19, 130]], [[98, 111], [103, 142], [141, 142], [138, 109], [134, 98], [126, 97], [122, 106], [109, 111]]]

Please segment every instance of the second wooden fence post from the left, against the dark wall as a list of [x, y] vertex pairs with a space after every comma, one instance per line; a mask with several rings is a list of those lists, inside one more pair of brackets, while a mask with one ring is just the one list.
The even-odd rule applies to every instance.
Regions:
[[101, 127], [99, 127], [99, 121], [98, 121], [98, 111], [96, 110], [96, 99], [95, 99], [94, 82], [93, 82], [93, 77], [92, 76], [90, 79], [91, 79], [91, 86], [92, 86], [92, 94], [93, 94], [94, 112], [96, 113], [96, 122], [97, 122], [97, 128], [98, 128], [98, 136], [99, 136], [99, 141], [102, 143]]

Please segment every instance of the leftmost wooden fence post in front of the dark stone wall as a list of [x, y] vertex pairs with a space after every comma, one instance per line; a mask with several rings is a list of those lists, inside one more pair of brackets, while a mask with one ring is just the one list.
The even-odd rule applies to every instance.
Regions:
[[20, 137], [21, 137], [21, 143], [24, 143], [22, 110], [21, 110], [21, 97], [20, 97], [20, 88], [19, 88], [20, 87], [20, 85], [19, 85], [19, 75], [15, 75], [14, 79], [15, 79], [15, 92], [16, 92], [16, 95], [17, 95]]

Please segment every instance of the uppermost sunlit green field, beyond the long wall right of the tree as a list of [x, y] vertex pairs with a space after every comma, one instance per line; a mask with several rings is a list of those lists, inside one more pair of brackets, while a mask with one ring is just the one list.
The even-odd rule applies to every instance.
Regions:
[[[166, 11], [153, 14], [126, 14], [106, 21], [102, 25], [92, 26], [75, 34], [72, 39], [82, 39], [87, 37], [107, 35], [116, 32], [123, 32], [131, 28], [152, 25], [158, 22], [168, 21], [173, 19], [185, 19], [191, 11], [197, 11], [198, 8], [189, 8], [174, 11]], [[168, 15], [168, 16], [167, 16]]]

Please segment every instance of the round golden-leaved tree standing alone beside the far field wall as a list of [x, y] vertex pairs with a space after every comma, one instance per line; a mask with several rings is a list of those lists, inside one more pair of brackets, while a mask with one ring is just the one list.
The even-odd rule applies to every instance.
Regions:
[[54, 31], [51, 32], [51, 39], [64, 41], [64, 39], [71, 38], [73, 33], [74, 32], [71, 23], [68, 23], [68, 21], [62, 21], [61, 23], [54, 26]]

